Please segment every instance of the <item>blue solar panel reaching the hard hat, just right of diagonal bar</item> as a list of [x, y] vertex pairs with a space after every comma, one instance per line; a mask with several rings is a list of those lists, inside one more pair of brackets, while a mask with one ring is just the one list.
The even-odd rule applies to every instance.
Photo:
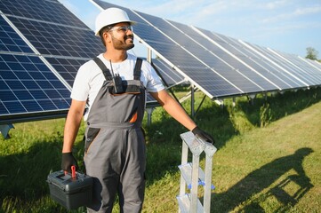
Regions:
[[100, 39], [92, 36], [89, 28], [60, 26], [54, 22], [15, 17], [9, 19], [40, 54], [92, 59], [104, 51]]

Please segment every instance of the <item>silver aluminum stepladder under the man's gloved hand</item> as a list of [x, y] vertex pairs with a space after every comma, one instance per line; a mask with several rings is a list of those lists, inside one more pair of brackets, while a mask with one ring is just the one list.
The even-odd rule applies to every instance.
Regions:
[[[213, 154], [216, 147], [211, 143], [197, 138], [191, 131], [181, 134], [181, 186], [180, 195], [176, 198], [179, 202], [179, 212], [181, 213], [210, 213], [211, 191], [214, 189], [212, 182]], [[189, 151], [192, 162], [188, 162]], [[199, 157], [205, 153], [205, 172], [199, 167]], [[197, 197], [198, 185], [204, 186], [203, 204]], [[189, 189], [189, 193], [186, 193]]]

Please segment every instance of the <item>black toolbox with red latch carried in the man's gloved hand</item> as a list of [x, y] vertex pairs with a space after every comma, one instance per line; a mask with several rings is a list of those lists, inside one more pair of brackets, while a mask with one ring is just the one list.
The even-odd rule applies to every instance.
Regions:
[[66, 209], [87, 206], [92, 201], [92, 177], [76, 172], [76, 177], [63, 170], [52, 172], [47, 177], [50, 194]]

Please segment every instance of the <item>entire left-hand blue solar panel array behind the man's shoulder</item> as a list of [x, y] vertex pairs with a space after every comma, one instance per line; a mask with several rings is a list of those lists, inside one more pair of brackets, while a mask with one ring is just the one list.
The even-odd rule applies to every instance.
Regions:
[[105, 51], [100, 38], [56, 0], [2, 0], [0, 12], [0, 124], [64, 116], [78, 68]]

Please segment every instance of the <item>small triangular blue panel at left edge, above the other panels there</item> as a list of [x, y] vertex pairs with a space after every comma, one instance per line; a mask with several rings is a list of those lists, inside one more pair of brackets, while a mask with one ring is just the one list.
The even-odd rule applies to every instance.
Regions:
[[33, 53], [27, 43], [0, 16], [0, 51]]

